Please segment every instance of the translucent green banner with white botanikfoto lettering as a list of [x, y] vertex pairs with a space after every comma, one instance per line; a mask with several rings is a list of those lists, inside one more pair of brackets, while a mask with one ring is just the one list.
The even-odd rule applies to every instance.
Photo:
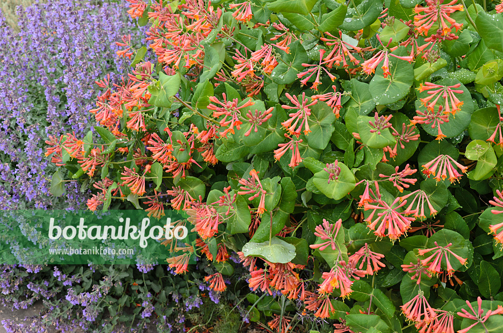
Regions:
[[195, 264], [192, 224], [178, 211], [0, 211], [0, 264]]

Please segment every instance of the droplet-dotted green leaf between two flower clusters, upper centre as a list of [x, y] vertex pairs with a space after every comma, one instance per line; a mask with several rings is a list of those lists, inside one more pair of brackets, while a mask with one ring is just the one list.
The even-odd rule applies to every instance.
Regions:
[[[284, 0], [278, 1], [286, 3]], [[309, 60], [300, 41], [290, 43], [288, 46], [290, 47], [290, 53], [284, 52], [283, 61], [278, 61], [279, 64], [271, 73], [271, 79], [278, 85], [289, 85], [297, 80], [297, 74], [304, 71], [305, 68], [302, 63]]]

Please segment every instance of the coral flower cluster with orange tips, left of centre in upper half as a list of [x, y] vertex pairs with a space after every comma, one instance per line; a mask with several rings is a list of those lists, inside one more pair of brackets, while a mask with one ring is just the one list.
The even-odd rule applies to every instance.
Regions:
[[[220, 132], [220, 136], [227, 137], [227, 133], [232, 133], [234, 134], [234, 127], [239, 130], [241, 127], [240, 125], [243, 123], [240, 120], [241, 112], [239, 109], [246, 108], [249, 106], [254, 105], [253, 100], [248, 100], [246, 101], [243, 105], [237, 106], [237, 98], [233, 99], [231, 101], [227, 101], [227, 96], [222, 94], [223, 97], [223, 103], [220, 102], [216, 97], [211, 96], [210, 97], [210, 102], [214, 104], [209, 104], [208, 109], [213, 110], [213, 117], [220, 117], [223, 116], [223, 118], [220, 120], [220, 126], [222, 127], [227, 127], [223, 132]], [[216, 106], [220, 105], [220, 106]], [[227, 119], [229, 117], [229, 119]]]

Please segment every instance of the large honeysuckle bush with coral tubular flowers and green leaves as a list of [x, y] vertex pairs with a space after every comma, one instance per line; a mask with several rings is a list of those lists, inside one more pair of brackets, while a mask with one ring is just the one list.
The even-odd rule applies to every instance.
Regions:
[[54, 195], [184, 211], [170, 266], [224, 292], [242, 265], [272, 331], [503, 327], [501, 4], [128, 1], [146, 45], [94, 131], [47, 140]]

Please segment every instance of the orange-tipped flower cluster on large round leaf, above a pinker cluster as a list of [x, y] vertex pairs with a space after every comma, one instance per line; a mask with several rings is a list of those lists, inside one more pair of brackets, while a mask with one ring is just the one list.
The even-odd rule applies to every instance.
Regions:
[[[420, 84], [419, 90], [420, 93], [424, 91], [428, 91], [428, 97], [422, 98], [421, 103], [430, 110], [430, 112], [435, 111], [435, 105], [437, 101], [442, 98], [444, 101], [444, 105], [442, 106], [444, 114], [452, 114], [453, 116], [456, 112], [461, 111], [461, 106], [463, 102], [460, 101], [456, 95], [454, 94], [463, 94], [462, 90], [453, 90], [452, 88], [459, 88], [461, 84], [457, 84], [454, 86], [439, 86], [433, 84], [431, 82], [425, 82], [425, 84]], [[433, 101], [432, 101], [433, 100]]]

